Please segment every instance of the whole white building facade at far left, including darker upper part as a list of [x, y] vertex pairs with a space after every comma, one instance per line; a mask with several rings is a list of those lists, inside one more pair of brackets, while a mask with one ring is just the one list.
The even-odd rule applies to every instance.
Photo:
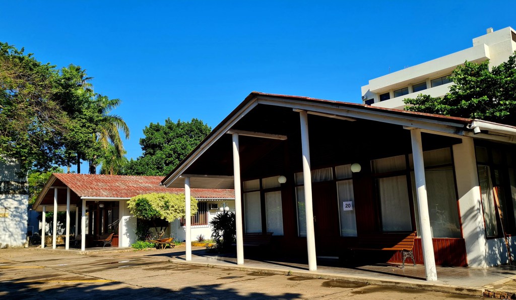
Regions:
[[18, 160], [0, 161], [0, 248], [27, 243], [27, 178], [19, 172]]

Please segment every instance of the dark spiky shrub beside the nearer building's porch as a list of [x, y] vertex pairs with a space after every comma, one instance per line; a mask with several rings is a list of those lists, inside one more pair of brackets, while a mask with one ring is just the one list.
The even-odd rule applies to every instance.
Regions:
[[236, 241], [236, 220], [234, 212], [218, 213], [210, 222], [212, 236], [219, 251], [227, 251]]

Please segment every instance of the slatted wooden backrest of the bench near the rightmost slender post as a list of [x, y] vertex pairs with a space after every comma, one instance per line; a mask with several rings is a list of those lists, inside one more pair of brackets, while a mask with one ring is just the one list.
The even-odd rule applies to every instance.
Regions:
[[366, 234], [359, 236], [359, 245], [373, 249], [412, 250], [415, 236], [415, 232], [408, 235], [400, 233]]

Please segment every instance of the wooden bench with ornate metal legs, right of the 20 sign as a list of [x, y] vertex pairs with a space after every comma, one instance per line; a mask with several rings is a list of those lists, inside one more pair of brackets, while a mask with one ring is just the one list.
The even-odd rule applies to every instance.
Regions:
[[349, 247], [351, 250], [378, 250], [378, 251], [401, 251], [403, 258], [403, 266], [405, 267], [405, 260], [412, 259], [414, 266], [414, 239], [416, 233], [400, 234], [400, 233], [378, 233], [365, 234], [358, 236], [358, 245], [356, 247]]

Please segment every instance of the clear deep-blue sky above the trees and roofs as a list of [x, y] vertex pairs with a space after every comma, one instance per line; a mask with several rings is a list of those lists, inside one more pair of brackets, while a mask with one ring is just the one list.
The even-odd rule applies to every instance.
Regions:
[[[361, 102], [371, 78], [516, 26], [513, 1], [0, 1], [0, 41], [79, 65], [131, 129], [212, 128], [251, 91]], [[83, 167], [83, 170], [87, 170]]]

